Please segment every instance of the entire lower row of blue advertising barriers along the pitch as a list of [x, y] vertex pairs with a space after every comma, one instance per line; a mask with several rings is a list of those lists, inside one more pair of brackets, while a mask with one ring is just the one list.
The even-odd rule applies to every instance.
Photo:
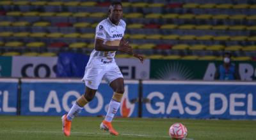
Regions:
[[[63, 115], [84, 93], [77, 79], [0, 79], [0, 115]], [[112, 90], [104, 81], [81, 116], [106, 114]], [[256, 83], [125, 80], [116, 116], [256, 119]]]

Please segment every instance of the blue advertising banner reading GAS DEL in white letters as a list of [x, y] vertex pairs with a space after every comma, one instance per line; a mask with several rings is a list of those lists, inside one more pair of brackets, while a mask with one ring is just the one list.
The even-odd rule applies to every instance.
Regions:
[[256, 119], [256, 83], [143, 81], [143, 117]]

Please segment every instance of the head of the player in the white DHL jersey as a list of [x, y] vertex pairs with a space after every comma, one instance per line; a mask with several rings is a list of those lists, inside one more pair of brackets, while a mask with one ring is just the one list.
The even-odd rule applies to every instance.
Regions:
[[123, 6], [121, 2], [112, 2], [109, 6], [109, 18], [113, 24], [118, 24], [123, 15]]

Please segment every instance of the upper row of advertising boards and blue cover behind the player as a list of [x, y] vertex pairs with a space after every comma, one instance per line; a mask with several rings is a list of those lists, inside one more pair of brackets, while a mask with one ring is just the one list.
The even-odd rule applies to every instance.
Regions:
[[[0, 57], [0, 77], [79, 78], [84, 74], [87, 55], [61, 53], [58, 57]], [[117, 58], [124, 78], [129, 80], [214, 80], [221, 60], [168, 60]], [[256, 61], [233, 61], [242, 81], [256, 80]]]

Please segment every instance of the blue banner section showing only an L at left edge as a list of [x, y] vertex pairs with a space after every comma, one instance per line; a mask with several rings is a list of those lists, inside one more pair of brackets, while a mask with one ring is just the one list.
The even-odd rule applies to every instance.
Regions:
[[0, 79], [0, 115], [17, 114], [18, 79]]

